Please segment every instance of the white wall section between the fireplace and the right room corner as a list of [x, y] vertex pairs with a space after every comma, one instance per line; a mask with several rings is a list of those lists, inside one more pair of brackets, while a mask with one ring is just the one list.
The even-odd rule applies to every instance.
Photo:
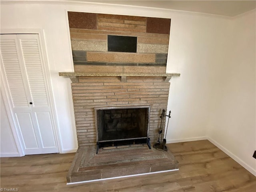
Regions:
[[222, 47], [229, 43], [229, 28], [227, 19], [172, 17], [167, 72], [181, 75], [170, 80], [168, 143], [206, 139], [216, 66], [224, 64]]

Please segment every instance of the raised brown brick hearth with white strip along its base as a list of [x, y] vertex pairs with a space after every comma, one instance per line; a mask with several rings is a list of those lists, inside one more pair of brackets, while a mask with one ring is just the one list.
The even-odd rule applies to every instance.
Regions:
[[147, 145], [101, 148], [79, 147], [68, 171], [68, 184], [178, 170], [170, 151], [148, 149]]

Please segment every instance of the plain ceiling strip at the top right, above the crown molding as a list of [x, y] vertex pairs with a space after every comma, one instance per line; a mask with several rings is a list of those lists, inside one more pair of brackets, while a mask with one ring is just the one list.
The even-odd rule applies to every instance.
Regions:
[[256, 0], [88, 0], [90, 2], [124, 4], [133, 6], [145, 6], [155, 8], [165, 8], [172, 10], [184, 10], [190, 12], [200, 12], [217, 14], [222, 16], [237, 16], [256, 8]]

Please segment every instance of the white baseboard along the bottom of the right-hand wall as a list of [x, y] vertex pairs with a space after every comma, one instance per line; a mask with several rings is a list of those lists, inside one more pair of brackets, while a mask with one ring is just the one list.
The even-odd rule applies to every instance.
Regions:
[[206, 137], [212, 144], [214, 144], [216, 147], [218, 147], [220, 150], [222, 150], [224, 153], [226, 153], [228, 156], [230, 156], [233, 160], [238, 162], [242, 167], [244, 167], [246, 170], [248, 170], [250, 173], [252, 173], [254, 176], [256, 176], [256, 170], [249, 166], [246, 162], [241, 160], [238, 156], [234, 155], [232, 152], [227, 150], [225, 147], [223, 147], [221, 144], [216, 142], [210, 137]]

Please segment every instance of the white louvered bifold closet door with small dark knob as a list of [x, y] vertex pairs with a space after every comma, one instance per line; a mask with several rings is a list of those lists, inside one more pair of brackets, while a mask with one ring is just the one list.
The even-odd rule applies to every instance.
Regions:
[[6, 95], [25, 154], [58, 152], [38, 34], [3, 34], [0, 50]]

